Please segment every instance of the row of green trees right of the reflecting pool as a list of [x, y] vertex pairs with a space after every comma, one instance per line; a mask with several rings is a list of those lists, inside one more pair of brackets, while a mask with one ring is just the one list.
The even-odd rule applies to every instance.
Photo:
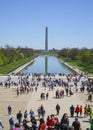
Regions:
[[58, 56], [93, 65], [93, 49], [63, 48], [58, 52]]

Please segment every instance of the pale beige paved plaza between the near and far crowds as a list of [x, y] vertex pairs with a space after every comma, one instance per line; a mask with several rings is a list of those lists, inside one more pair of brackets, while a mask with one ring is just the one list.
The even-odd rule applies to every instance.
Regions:
[[[2, 80], [3, 82], [5, 79], [7, 79], [7, 76], [0, 77], [0, 80]], [[12, 76], [12, 80], [15, 80], [16, 82], [18, 82], [18, 77]], [[45, 114], [45, 120], [46, 120], [48, 115], [51, 115], [51, 114], [56, 115], [55, 106], [58, 103], [61, 107], [60, 114], [58, 116], [59, 120], [62, 118], [64, 113], [68, 113], [70, 125], [74, 121], [74, 118], [70, 117], [70, 111], [69, 111], [69, 108], [72, 104], [75, 107], [77, 106], [77, 104], [82, 105], [83, 107], [85, 106], [85, 104], [90, 104], [92, 106], [92, 102], [87, 101], [88, 95], [86, 91], [84, 93], [81, 93], [79, 90], [79, 92], [76, 93], [75, 89], [73, 88], [72, 91], [74, 95], [72, 95], [71, 97], [65, 95], [63, 98], [56, 99], [55, 91], [57, 89], [61, 90], [64, 88], [62, 86], [61, 87], [56, 86], [54, 87], [54, 90], [49, 90], [49, 88], [45, 89], [39, 84], [37, 92], [34, 91], [34, 92], [29, 92], [28, 94], [24, 93], [17, 96], [16, 91], [13, 86], [11, 86], [10, 88], [5, 88], [4, 86], [0, 86], [0, 119], [2, 120], [4, 124], [4, 130], [9, 129], [8, 121], [9, 121], [10, 116], [7, 113], [8, 105], [12, 106], [13, 112], [11, 116], [14, 118], [15, 122], [17, 122], [16, 114], [19, 112], [19, 110], [21, 110], [22, 113], [24, 113], [25, 110], [29, 112], [30, 109], [33, 109], [35, 112], [35, 115], [37, 116], [37, 109], [41, 106], [41, 104], [43, 104], [46, 110], [46, 114]], [[41, 92], [44, 92], [44, 93], [48, 92], [49, 99], [41, 101], [40, 99]], [[83, 113], [84, 113], [84, 109], [83, 109]], [[90, 127], [89, 117], [84, 118], [84, 114], [82, 118], [79, 118], [79, 121], [81, 123], [83, 130], [86, 130], [86, 128]]]

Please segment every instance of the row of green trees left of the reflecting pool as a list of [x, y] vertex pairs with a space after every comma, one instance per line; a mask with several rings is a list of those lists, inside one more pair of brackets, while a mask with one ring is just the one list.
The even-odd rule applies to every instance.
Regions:
[[23, 58], [27, 58], [34, 55], [34, 50], [32, 48], [12, 48], [6, 46], [5, 48], [0, 48], [0, 66], [18, 61]]

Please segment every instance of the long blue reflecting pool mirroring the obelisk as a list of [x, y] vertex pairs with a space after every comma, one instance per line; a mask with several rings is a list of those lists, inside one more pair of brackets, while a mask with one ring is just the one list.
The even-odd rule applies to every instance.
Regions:
[[54, 56], [38, 56], [36, 60], [20, 73], [74, 73], [67, 66], [62, 64], [57, 57]]

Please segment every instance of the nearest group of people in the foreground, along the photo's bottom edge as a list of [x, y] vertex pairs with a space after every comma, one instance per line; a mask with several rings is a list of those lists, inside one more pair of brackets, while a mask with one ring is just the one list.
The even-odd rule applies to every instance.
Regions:
[[[93, 111], [91, 111], [92, 109], [89, 104], [86, 104], [84, 108], [81, 105], [71, 105], [69, 108], [70, 115], [64, 113], [61, 120], [58, 118], [58, 115], [60, 114], [60, 107], [61, 106], [59, 104], [56, 104], [56, 114], [47, 116], [46, 120], [44, 118], [46, 110], [43, 105], [37, 109], [38, 118], [36, 118], [35, 112], [32, 109], [29, 112], [25, 110], [24, 113], [19, 111], [16, 114], [17, 123], [15, 123], [13, 117], [10, 117], [9, 119], [10, 130], [83, 130], [83, 128], [81, 128], [79, 118], [84, 118], [85, 116], [90, 116], [91, 130], [93, 130]], [[9, 105], [7, 109], [8, 114], [11, 115], [12, 107]], [[73, 117], [75, 120], [70, 126], [70, 118]], [[3, 128], [2, 123], [1, 125]]]

